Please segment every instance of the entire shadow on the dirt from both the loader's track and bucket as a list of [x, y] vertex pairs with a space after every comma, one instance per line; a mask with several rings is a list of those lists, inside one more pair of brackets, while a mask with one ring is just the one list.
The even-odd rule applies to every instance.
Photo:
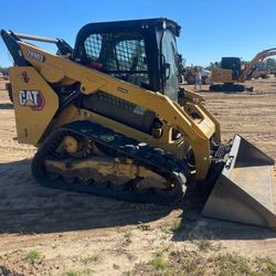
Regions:
[[[210, 189], [192, 187], [174, 206], [181, 210], [181, 227], [173, 232], [173, 241], [276, 236], [275, 231], [202, 217], [209, 192]], [[162, 219], [172, 210], [41, 187], [31, 176], [30, 159], [0, 164], [0, 233], [59, 233], [138, 225]]]

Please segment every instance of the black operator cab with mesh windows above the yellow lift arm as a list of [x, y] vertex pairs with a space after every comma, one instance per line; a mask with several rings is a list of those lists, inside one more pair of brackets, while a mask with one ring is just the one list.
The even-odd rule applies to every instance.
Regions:
[[77, 34], [73, 60], [177, 100], [179, 33], [163, 18], [91, 23]]

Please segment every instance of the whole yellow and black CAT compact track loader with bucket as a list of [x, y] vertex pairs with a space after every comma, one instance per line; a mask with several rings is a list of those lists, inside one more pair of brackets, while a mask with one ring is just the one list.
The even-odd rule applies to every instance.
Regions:
[[[18, 140], [38, 147], [43, 185], [135, 202], [176, 204], [189, 183], [212, 184], [211, 217], [276, 227], [274, 160], [220, 124], [202, 97], [178, 86], [168, 19], [92, 23], [75, 47], [1, 31]], [[26, 40], [54, 43], [51, 54]]]

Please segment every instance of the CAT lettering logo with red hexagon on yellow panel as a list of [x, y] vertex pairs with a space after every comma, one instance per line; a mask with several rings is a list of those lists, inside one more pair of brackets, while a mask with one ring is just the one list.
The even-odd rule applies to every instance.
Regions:
[[19, 104], [21, 106], [30, 106], [33, 110], [42, 110], [45, 99], [39, 91], [20, 91]]

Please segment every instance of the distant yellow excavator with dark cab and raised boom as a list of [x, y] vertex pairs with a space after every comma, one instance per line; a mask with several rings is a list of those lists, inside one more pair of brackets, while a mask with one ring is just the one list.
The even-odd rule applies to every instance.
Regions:
[[221, 66], [212, 70], [210, 91], [243, 92], [246, 79], [251, 79], [256, 64], [265, 57], [276, 55], [276, 47], [262, 51], [251, 61], [242, 65], [240, 57], [222, 57]]

